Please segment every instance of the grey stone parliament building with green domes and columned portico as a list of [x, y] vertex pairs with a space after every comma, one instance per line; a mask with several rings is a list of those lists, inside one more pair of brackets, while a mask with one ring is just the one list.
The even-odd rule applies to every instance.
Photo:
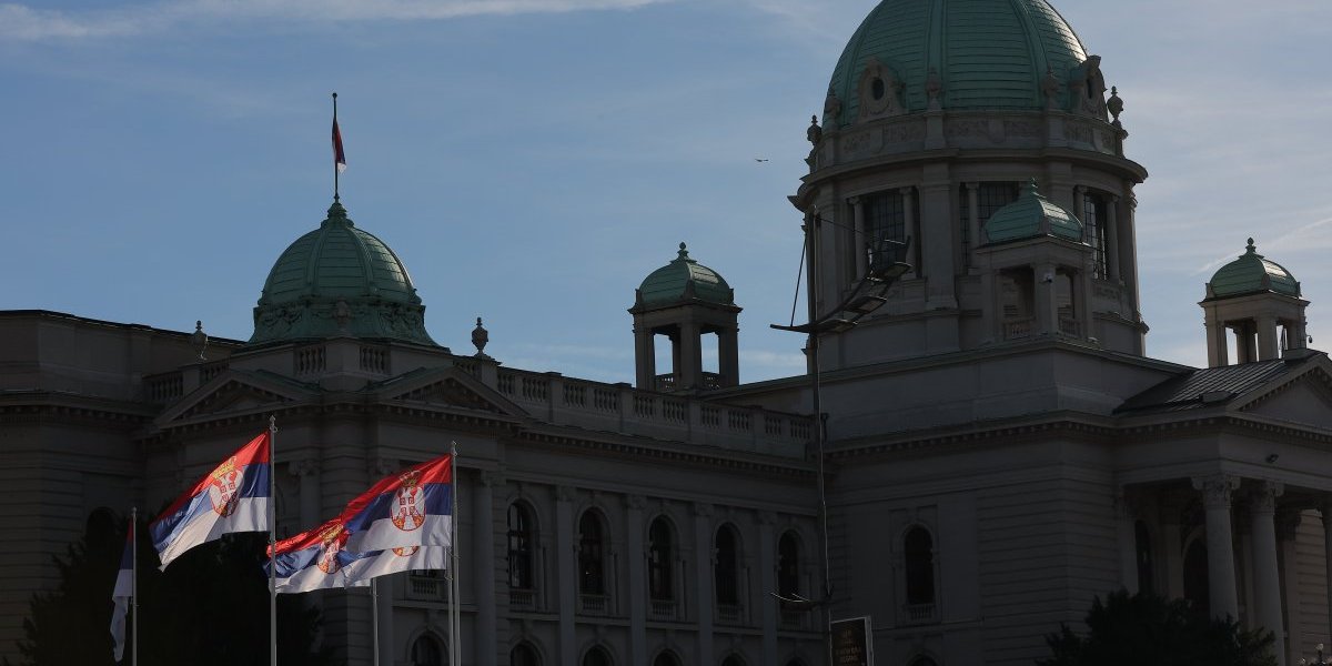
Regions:
[[160, 506], [276, 417], [280, 537], [457, 444], [461, 598], [429, 571], [310, 593], [346, 663], [444, 665], [457, 603], [477, 666], [823, 666], [859, 617], [879, 666], [1026, 666], [1119, 589], [1299, 662], [1332, 642], [1332, 364], [1245, 238], [1197, 285], [1207, 368], [1146, 356], [1147, 170], [1099, 47], [1046, 0], [870, 12], [809, 81], [795, 377], [741, 381], [745, 294], [683, 244], [606, 304], [633, 384], [505, 365], [481, 321], [444, 346], [337, 201], [253, 276], [248, 340], [0, 312], [0, 657], [89, 514]]

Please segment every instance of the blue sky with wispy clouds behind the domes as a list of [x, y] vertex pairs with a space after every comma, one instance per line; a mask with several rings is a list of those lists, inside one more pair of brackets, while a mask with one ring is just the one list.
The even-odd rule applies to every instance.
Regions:
[[[633, 380], [634, 288], [735, 288], [741, 374], [797, 374], [805, 127], [874, 0], [0, 1], [0, 308], [248, 338], [332, 198], [426, 326], [509, 366]], [[1332, 348], [1332, 3], [1056, 3], [1124, 100], [1154, 357], [1204, 362], [1203, 284], [1255, 236]], [[755, 157], [770, 161], [759, 163]], [[1327, 342], [1324, 342], [1327, 340]]]

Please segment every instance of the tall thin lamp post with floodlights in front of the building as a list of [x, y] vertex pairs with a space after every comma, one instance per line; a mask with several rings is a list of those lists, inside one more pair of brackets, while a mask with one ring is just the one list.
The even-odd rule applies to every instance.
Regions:
[[[823, 396], [819, 376], [819, 340], [827, 334], [838, 334], [851, 328], [855, 328], [856, 322], [876, 310], [880, 305], [887, 302], [886, 294], [899, 277], [902, 277], [907, 270], [911, 270], [910, 264], [904, 264], [900, 260], [906, 254], [906, 248], [910, 245], [911, 238], [906, 241], [896, 241], [891, 238], [872, 237], [867, 244], [866, 252], [868, 253], [868, 266], [866, 274], [856, 282], [848, 294], [834, 306], [822, 314], [818, 313], [818, 294], [821, 292], [821, 273], [819, 273], [819, 232], [822, 222], [825, 220], [819, 217], [818, 209], [813, 213], [806, 214], [805, 225], [805, 249], [807, 258], [809, 274], [809, 289], [806, 296], [806, 305], [809, 313], [809, 322], [801, 325], [782, 326], [773, 324], [771, 326], [778, 330], [790, 330], [795, 333], [805, 333], [806, 340], [806, 354], [809, 357], [809, 370], [810, 370], [810, 401], [813, 402], [814, 413], [814, 450], [818, 457], [818, 531], [822, 550], [822, 567], [823, 567], [823, 595], [818, 599], [806, 599], [802, 597], [786, 598], [779, 594], [774, 594], [783, 606], [795, 610], [814, 610], [817, 607], [827, 607], [832, 601], [832, 578], [830, 575], [830, 558], [829, 558], [829, 529], [827, 529], [827, 489], [825, 480], [825, 456], [823, 448], [827, 440], [826, 433], [826, 420], [823, 416]], [[830, 222], [835, 224], [835, 222]], [[831, 642], [829, 637], [829, 621], [831, 615], [825, 618], [825, 626], [822, 633], [825, 637], [825, 646], [830, 650], [831, 658]]]

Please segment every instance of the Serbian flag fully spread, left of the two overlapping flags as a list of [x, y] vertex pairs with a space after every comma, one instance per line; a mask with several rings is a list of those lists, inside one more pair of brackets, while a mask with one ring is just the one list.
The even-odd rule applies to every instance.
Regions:
[[163, 569], [186, 550], [232, 531], [268, 531], [273, 498], [269, 437], [250, 440], [148, 525]]

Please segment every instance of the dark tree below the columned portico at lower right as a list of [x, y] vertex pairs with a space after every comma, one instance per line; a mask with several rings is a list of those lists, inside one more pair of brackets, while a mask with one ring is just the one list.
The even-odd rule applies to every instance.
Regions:
[[1126, 590], [1092, 601], [1086, 635], [1063, 625], [1040, 666], [1276, 666], [1271, 631], [1212, 619], [1184, 599]]

